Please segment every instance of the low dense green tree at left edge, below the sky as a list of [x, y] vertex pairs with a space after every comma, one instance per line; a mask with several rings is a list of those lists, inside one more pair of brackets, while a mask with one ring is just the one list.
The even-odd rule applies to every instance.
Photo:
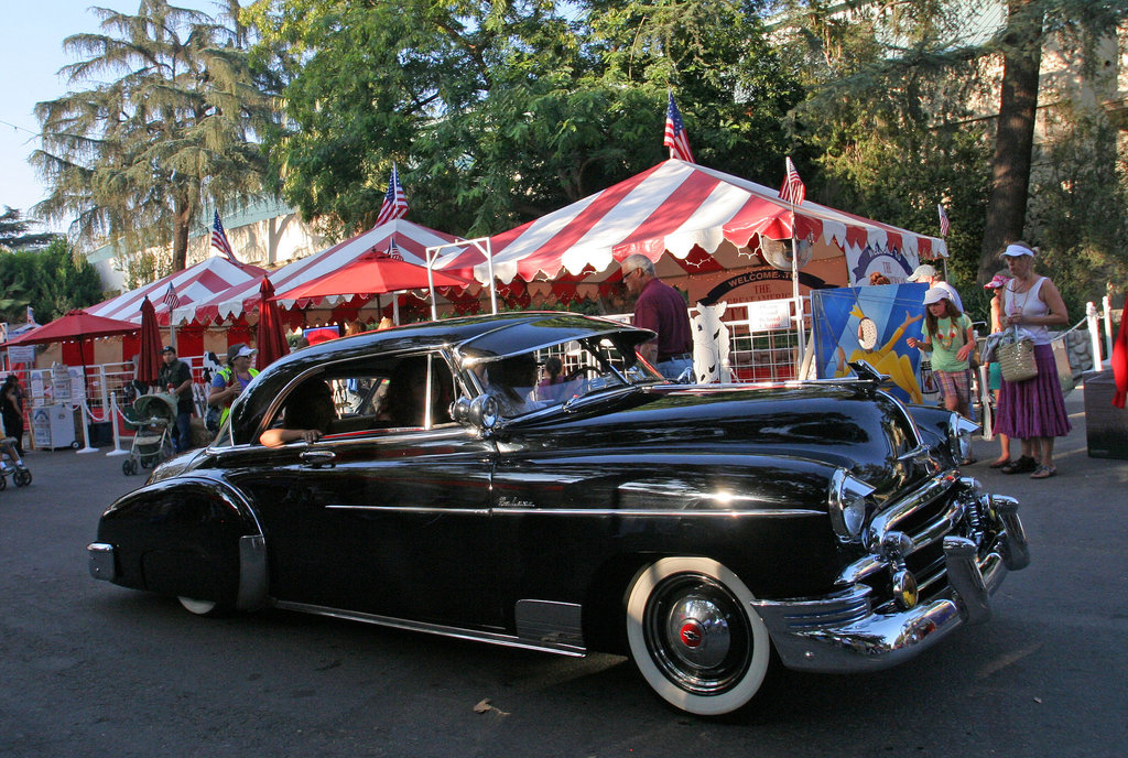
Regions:
[[94, 266], [73, 256], [62, 238], [43, 250], [0, 255], [0, 320], [23, 323], [27, 307], [41, 324], [76, 308], [102, 301], [102, 280]]

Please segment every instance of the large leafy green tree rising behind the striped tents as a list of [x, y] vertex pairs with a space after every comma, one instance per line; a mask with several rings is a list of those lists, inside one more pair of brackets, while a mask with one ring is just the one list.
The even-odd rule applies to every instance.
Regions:
[[281, 191], [347, 229], [374, 221], [393, 161], [412, 218], [464, 233], [601, 190], [667, 157], [668, 87], [698, 158], [747, 169], [800, 96], [737, 2], [259, 0], [247, 18], [287, 74]]

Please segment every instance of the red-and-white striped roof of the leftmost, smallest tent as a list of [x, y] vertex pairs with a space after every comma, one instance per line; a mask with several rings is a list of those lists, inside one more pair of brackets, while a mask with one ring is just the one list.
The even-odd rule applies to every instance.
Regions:
[[161, 326], [168, 326], [168, 303], [165, 302], [165, 296], [170, 283], [176, 292], [178, 308], [191, 308], [220, 292], [227, 292], [232, 287], [257, 285], [264, 273], [266, 272], [258, 266], [239, 265], [231, 263], [226, 256], [213, 255], [183, 271], [158, 279], [151, 284], [139, 287], [116, 298], [91, 306], [86, 311], [103, 318], [116, 318], [140, 324], [141, 303], [148, 297], [157, 311], [157, 321]]

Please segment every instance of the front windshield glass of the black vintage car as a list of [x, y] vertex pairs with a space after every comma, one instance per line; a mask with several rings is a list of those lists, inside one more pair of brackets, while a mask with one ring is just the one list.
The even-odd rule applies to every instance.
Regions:
[[[634, 343], [610, 336], [570, 340], [527, 353], [474, 362], [478, 390], [493, 395], [506, 418], [558, 408], [581, 398], [664, 381], [638, 361]], [[629, 351], [629, 352], [627, 352]]]

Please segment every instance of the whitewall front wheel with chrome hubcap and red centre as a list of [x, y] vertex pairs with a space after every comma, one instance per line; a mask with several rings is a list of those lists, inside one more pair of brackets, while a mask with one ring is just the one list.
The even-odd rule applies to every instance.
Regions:
[[627, 598], [627, 641], [647, 684], [671, 705], [700, 715], [746, 705], [772, 661], [752, 593], [716, 561], [662, 558]]

